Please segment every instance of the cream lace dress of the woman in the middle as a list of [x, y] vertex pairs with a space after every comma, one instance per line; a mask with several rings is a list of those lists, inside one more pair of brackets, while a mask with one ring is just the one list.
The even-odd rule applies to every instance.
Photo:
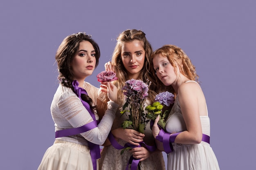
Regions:
[[[112, 129], [120, 128], [121, 123], [126, 119], [127, 117], [125, 115], [121, 117], [120, 110], [117, 109]], [[126, 144], [126, 142], [121, 139], [117, 140], [117, 142], [121, 146]], [[146, 125], [144, 142], [150, 146], [155, 144], [155, 138], [153, 137], [152, 130], [150, 129], [150, 123]], [[124, 151], [121, 155], [121, 150], [115, 149], [112, 145], [106, 146], [101, 151], [99, 170], [125, 170], [131, 155], [132, 154], [128, 152], [128, 150]], [[165, 170], [162, 152], [151, 154], [148, 159], [141, 161], [141, 170]]]

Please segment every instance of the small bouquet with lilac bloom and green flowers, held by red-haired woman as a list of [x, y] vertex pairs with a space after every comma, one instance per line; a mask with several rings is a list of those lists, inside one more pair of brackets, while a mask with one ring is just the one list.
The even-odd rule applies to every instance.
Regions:
[[148, 105], [145, 108], [145, 110], [148, 110], [148, 114], [146, 115], [146, 117], [148, 119], [155, 121], [157, 116], [160, 115], [160, 119], [157, 124], [162, 129], [164, 129], [165, 124], [166, 124], [166, 113], [168, 112], [168, 110], [165, 110], [163, 113], [162, 109], [164, 108], [164, 106], [162, 104], [164, 104], [166, 106], [170, 106], [171, 104], [173, 104], [174, 103], [174, 95], [173, 95], [173, 93], [170, 93], [168, 91], [162, 92], [162, 93], [159, 93], [158, 95], [156, 95], [155, 101], [156, 102], [154, 102], [152, 105]]

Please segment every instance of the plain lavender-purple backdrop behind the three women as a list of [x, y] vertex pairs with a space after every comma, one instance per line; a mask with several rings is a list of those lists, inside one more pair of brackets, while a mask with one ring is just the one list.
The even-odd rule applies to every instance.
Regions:
[[96, 75], [125, 29], [144, 31], [154, 50], [184, 49], [202, 82], [220, 169], [256, 169], [255, 7], [254, 0], [1, 1], [0, 169], [35, 170], [53, 144], [61, 41], [85, 31], [98, 42], [100, 63], [86, 81], [99, 87]]

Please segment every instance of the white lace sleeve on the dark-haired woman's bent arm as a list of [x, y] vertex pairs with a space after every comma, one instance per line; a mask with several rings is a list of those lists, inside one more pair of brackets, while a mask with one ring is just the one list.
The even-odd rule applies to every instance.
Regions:
[[[93, 121], [90, 113], [83, 106], [80, 99], [76, 96], [70, 96], [59, 102], [61, 115], [71, 124], [72, 127], [77, 128]], [[81, 135], [88, 141], [102, 145], [108, 137], [111, 130], [112, 123], [115, 119], [115, 112], [118, 104], [115, 102], [108, 102], [108, 110], [106, 110], [101, 122], [97, 128], [81, 133]]]

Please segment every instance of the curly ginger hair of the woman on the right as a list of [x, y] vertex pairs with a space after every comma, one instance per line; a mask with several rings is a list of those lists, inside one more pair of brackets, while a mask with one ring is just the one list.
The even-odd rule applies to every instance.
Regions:
[[[151, 62], [152, 62], [152, 59], [158, 54], [161, 54], [164, 57], [168, 58], [171, 65], [174, 67], [176, 73], [177, 73], [177, 66], [178, 66], [181, 74], [183, 74], [190, 80], [194, 80], [194, 81], [198, 82], [199, 76], [197, 75], [197, 73], [195, 71], [195, 66], [192, 64], [189, 57], [186, 55], [186, 53], [180, 47], [175, 46], [175, 45], [170, 45], [170, 44], [162, 46], [161, 48], [154, 51], [154, 53], [151, 57]], [[155, 72], [154, 69], [151, 71]], [[159, 86], [163, 85], [162, 82], [157, 78], [156, 75], [154, 75], [154, 77], [157, 79], [157, 85], [159, 85]], [[200, 82], [198, 82], [198, 83], [200, 83]]]

